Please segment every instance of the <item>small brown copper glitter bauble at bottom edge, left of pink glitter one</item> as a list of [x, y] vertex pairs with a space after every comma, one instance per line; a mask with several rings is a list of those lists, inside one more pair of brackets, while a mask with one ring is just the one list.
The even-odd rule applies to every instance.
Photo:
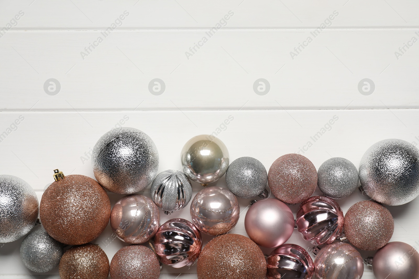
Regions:
[[62, 255], [58, 271], [61, 279], [106, 279], [109, 260], [96, 244], [74, 246]]

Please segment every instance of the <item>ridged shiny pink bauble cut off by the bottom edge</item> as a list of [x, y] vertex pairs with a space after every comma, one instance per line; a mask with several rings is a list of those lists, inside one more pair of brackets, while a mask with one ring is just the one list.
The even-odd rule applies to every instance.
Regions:
[[314, 264], [310, 255], [301, 246], [283, 244], [266, 259], [268, 279], [311, 279]]

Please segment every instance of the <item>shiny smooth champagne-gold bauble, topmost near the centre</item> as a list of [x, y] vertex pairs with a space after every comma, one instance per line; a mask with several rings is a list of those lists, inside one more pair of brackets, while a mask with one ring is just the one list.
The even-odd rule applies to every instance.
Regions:
[[228, 150], [224, 143], [211, 135], [191, 138], [181, 151], [184, 173], [204, 186], [225, 174], [230, 163], [228, 157]]

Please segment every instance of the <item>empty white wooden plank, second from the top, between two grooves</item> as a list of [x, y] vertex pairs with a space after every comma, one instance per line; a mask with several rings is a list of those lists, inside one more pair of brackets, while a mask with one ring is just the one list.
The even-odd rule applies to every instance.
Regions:
[[[7, 77], [0, 109], [418, 107], [419, 31], [318, 32], [10, 31], [0, 40], [0, 74]], [[51, 78], [61, 85], [54, 96], [46, 89]], [[164, 91], [150, 91], [156, 78]], [[261, 78], [269, 92], [257, 92]], [[371, 95], [361, 94], [364, 79], [374, 84], [365, 93]]]

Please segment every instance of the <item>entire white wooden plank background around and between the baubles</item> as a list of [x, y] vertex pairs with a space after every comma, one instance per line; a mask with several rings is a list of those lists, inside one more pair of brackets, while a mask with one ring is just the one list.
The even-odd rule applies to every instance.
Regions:
[[[413, 0], [0, 0], [0, 134], [7, 133], [0, 138], [0, 174], [26, 180], [40, 200], [53, 169], [93, 177], [88, 153], [119, 125], [153, 138], [159, 171], [180, 169], [184, 143], [202, 133], [216, 132], [230, 159], [253, 156], [266, 169], [299, 148], [318, 168], [332, 156], [357, 166], [385, 138], [417, 145], [419, 42], [412, 37], [419, 39], [418, 10]], [[125, 11], [120, 26], [83, 59], [80, 52]], [[188, 59], [185, 52], [229, 12], [225, 26]], [[314, 38], [310, 32], [334, 13]], [[313, 41], [292, 59], [290, 51], [308, 36]], [[401, 53], [404, 44], [411, 46]], [[52, 78], [61, 86], [50, 92], [56, 95], [44, 91]], [[166, 85], [161, 95], [148, 90], [155, 78]], [[266, 95], [253, 91], [259, 78], [270, 84]], [[358, 90], [365, 78], [375, 84], [370, 95]], [[234, 120], [220, 126], [230, 115]], [[339, 120], [325, 127], [335, 115]], [[325, 133], [313, 142], [318, 131]], [[216, 184], [225, 186], [225, 179]], [[122, 196], [110, 197], [114, 204]], [[346, 212], [362, 199], [356, 192], [338, 202]], [[240, 200], [232, 233], [246, 235], [248, 203]], [[295, 215], [297, 205], [291, 208]], [[395, 218], [392, 241], [419, 248], [419, 200], [388, 209]], [[161, 223], [169, 219], [162, 217]], [[170, 216], [177, 217], [191, 220], [189, 206]], [[108, 227], [94, 241], [109, 260], [124, 245], [113, 238]], [[25, 269], [21, 241], [0, 245], [1, 279], [59, 278], [57, 269], [47, 275]], [[311, 248], [297, 231], [288, 242]], [[165, 266], [160, 278], [194, 273], [194, 266]], [[368, 267], [364, 278], [373, 278]]]

